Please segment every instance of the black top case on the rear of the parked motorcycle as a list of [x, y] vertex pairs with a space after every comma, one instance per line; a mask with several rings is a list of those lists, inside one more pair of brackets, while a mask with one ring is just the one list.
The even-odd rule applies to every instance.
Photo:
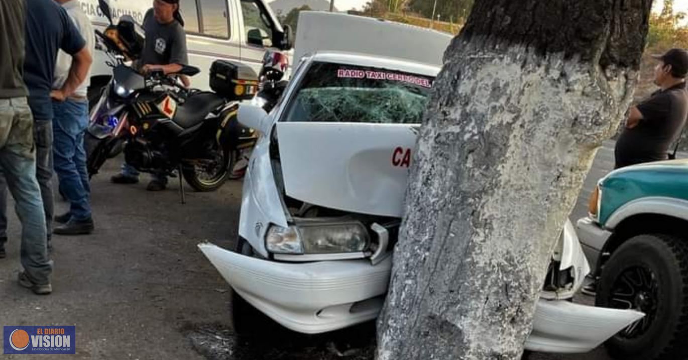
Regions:
[[211, 65], [211, 89], [230, 100], [250, 100], [258, 92], [258, 76], [248, 65], [217, 60]]

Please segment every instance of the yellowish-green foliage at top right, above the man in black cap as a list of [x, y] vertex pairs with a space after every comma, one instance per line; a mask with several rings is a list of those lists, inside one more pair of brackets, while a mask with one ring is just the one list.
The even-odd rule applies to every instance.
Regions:
[[688, 48], [688, 26], [680, 25], [686, 14], [674, 14], [674, 0], [664, 0], [661, 14], [652, 14], [649, 21], [647, 45], [651, 49]]

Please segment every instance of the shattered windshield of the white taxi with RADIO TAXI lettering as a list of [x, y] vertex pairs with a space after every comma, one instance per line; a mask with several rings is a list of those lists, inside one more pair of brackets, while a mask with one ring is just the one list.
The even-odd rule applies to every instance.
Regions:
[[334, 63], [314, 63], [286, 121], [418, 124], [433, 78]]

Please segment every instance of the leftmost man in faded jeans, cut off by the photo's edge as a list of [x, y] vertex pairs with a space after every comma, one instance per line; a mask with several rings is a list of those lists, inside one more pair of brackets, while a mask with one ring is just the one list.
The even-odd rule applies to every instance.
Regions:
[[[0, 1], [0, 169], [5, 173], [21, 221], [19, 284], [34, 293], [52, 292], [45, 243], [45, 213], [36, 180], [34, 120], [23, 82], [25, 0]], [[0, 238], [0, 258], [7, 237]]]

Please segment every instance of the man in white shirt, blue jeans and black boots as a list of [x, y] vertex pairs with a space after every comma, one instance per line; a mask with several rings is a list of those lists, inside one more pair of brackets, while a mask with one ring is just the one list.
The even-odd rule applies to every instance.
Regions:
[[[55, 1], [67, 10], [67, 14], [86, 41], [87, 50], [93, 54], [96, 44], [94, 30], [88, 17], [81, 10], [78, 0]], [[69, 77], [71, 65], [72, 58], [61, 51], [57, 56], [53, 89], [63, 87]], [[69, 211], [54, 219], [61, 224], [53, 231], [58, 235], [89, 234], [94, 230], [89, 204], [91, 189], [84, 150], [84, 134], [89, 122], [87, 89], [90, 76], [89, 72], [86, 80], [72, 96], [52, 96], [54, 168], [60, 180], [60, 193], [69, 201]]]

